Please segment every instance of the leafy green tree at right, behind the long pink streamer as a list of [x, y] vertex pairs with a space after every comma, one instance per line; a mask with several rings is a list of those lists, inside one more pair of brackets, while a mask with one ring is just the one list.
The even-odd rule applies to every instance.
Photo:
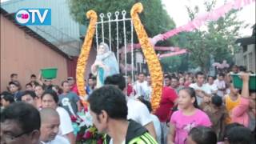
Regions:
[[[213, 10], [216, 2], [216, 0], [206, 1], [204, 3], [206, 11]], [[186, 8], [190, 19], [193, 20], [198, 14], [198, 6]], [[234, 42], [239, 37], [239, 30], [246, 27], [244, 22], [238, 20], [237, 12], [238, 10], [230, 10], [218, 21], [209, 22], [204, 30], [184, 33], [186, 42], [183, 45], [190, 50], [190, 61], [205, 72], [210, 67], [210, 54], [214, 56], [215, 62], [223, 60], [232, 62], [234, 53], [238, 50]]]

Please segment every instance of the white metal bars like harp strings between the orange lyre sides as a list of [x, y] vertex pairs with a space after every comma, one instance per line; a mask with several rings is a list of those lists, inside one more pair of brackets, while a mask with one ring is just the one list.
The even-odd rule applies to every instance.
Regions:
[[[112, 13], [107, 13], [107, 14], [99, 14], [99, 21], [96, 22], [96, 31], [95, 31], [95, 40], [96, 40], [96, 47], [98, 50], [98, 45], [99, 45], [99, 41], [102, 40], [101, 42], [105, 42], [106, 39], [108, 39], [108, 45], [110, 47], [110, 50], [112, 52], [114, 52], [114, 54], [116, 54], [116, 58], [117, 58], [117, 62], [120, 66], [120, 63], [122, 63], [122, 61], [120, 61], [120, 59], [124, 59], [124, 65], [125, 65], [125, 75], [127, 78], [127, 74], [128, 71], [130, 71], [131, 73], [131, 77], [132, 77], [132, 81], [134, 82], [134, 71], [137, 70], [137, 65], [134, 65], [134, 26], [133, 26], [133, 22], [131, 21], [131, 18], [126, 18], [126, 10], [122, 10], [122, 12], [120, 13], [119, 11], [116, 11], [114, 14]], [[126, 22], [130, 22], [130, 39], [127, 39], [127, 30], [126, 30]], [[113, 24], [115, 23], [115, 24]], [[112, 24], [112, 25], [111, 25]], [[122, 28], [120, 27], [120, 25], [122, 24]], [[106, 28], [105, 26], [108, 25]], [[114, 26], [114, 27], [113, 27]], [[105, 29], [104, 29], [105, 27]], [[114, 28], [116, 28], [115, 30], [115, 34], [113, 34]], [[100, 30], [98, 30], [100, 29]], [[108, 35], [106, 34], [106, 31], [108, 31]], [[122, 31], [119, 31], [122, 30]], [[122, 34], [122, 38], [123, 38], [123, 46], [120, 46], [120, 41], [119, 41], [119, 34]], [[116, 42], [116, 49], [113, 48], [112, 45], [112, 39], [113, 42]], [[127, 45], [130, 42], [130, 50], [127, 50]], [[107, 42], [105, 42], [107, 43]], [[119, 50], [120, 48], [122, 49], [122, 54], [124, 53], [124, 58], [121, 58], [119, 55]], [[115, 50], [115, 51], [114, 51]], [[124, 51], [123, 51], [124, 50]], [[130, 69], [127, 70], [128, 67], [128, 63], [127, 63], [127, 53], [131, 54], [131, 64], [130, 64]]]

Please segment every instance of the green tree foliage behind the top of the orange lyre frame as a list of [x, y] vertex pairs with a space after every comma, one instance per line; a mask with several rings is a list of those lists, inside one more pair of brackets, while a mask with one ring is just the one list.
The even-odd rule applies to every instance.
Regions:
[[[146, 29], [149, 37], [154, 37], [154, 35], [163, 33], [166, 30], [171, 30], [175, 27], [174, 21], [167, 14], [165, 7], [162, 5], [160, 0], [70, 0], [70, 13], [73, 18], [82, 25], [88, 25], [88, 20], [86, 19], [86, 12], [88, 10], [95, 10], [98, 14], [107, 14], [108, 12], [114, 14], [115, 11], [126, 10], [126, 18], [130, 18], [130, 9], [136, 2], [142, 2], [144, 10], [140, 14], [142, 23]], [[122, 18], [122, 14], [119, 15]], [[115, 17], [114, 17], [115, 18]], [[100, 18], [98, 18], [100, 21]], [[115, 34], [116, 26], [115, 23], [111, 26], [111, 35]], [[104, 26], [104, 31], [108, 35], [108, 25]], [[100, 30], [100, 28], [98, 29]], [[127, 39], [130, 38], [130, 23], [126, 23]], [[119, 22], [119, 31], [122, 32], [122, 22]], [[123, 40], [123, 34], [119, 35], [119, 39]], [[113, 38], [111, 41], [116, 45], [116, 40]], [[134, 42], [138, 42], [136, 34], [134, 34]], [[166, 42], [159, 42], [161, 46], [171, 46], [174, 45], [174, 38], [170, 38]], [[124, 42], [120, 42], [120, 46]]]

